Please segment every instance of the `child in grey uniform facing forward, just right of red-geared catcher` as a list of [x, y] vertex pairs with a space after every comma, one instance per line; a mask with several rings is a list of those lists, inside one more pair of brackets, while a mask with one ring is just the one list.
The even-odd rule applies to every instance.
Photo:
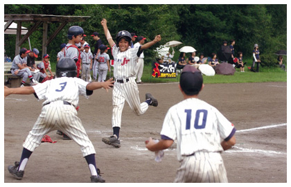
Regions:
[[92, 59], [93, 55], [89, 52], [89, 44], [85, 44], [85, 51], [81, 53], [81, 63], [82, 63], [82, 80], [90, 82], [90, 69], [92, 69]]

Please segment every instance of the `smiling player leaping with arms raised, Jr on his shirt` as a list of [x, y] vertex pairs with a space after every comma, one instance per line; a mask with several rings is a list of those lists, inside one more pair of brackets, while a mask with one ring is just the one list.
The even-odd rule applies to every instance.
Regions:
[[152, 94], [145, 94], [145, 102], [141, 103], [139, 100], [139, 89], [135, 82], [134, 71], [139, 55], [144, 49], [149, 48], [153, 44], [161, 41], [161, 36], [157, 35], [152, 42], [148, 42], [139, 48], [130, 48], [132, 36], [126, 30], [121, 30], [116, 35], [116, 44], [112, 39], [107, 28], [107, 20], [103, 19], [101, 24], [104, 29], [105, 37], [112, 46], [112, 56], [114, 57], [114, 89], [112, 94], [112, 127], [113, 136], [102, 139], [108, 145], [115, 148], [120, 148], [119, 131], [121, 128], [121, 114], [125, 100], [130, 105], [134, 114], [141, 115], [145, 113], [149, 105], [157, 107], [158, 102]]

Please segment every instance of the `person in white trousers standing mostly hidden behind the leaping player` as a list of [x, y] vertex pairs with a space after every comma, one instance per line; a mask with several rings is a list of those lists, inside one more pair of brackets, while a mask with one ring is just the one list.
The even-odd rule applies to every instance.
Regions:
[[[143, 36], [139, 36], [137, 37], [137, 42], [134, 44], [134, 48], [139, 48], [140, 46], [142, 46], [144, 43], [145, 43], [145, 37]], [[137, 84], [143, 84], [143, 82], [141, 82], [141, 77], [143, 75], [143, 65], [144, 65], [144, 62], [143, 62], [143, 58], [144, 58], [144, 55], [143, 53], [141, 53], [141, 55], [139, 56], [139, 60], [135, 66], [135, 69], [136, 69], [136, 83]]]

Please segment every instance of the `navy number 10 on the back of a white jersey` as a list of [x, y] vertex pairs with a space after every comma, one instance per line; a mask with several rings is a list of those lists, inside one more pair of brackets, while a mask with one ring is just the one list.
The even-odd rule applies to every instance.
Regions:
[[[185, 109], [186, 113], [186, 130], [190, 130], [191, 126], [191, 118], [192, 118], [192, 109]], [[204, 129], [206, 125], [206, 118], [207, 118], [207, 110], [205, 109], [198, 109], [195, 114], [195, 121], [194, 121], [194, 128], [196, 130]], [[202, 121], [200, 118], [202, 117]]]

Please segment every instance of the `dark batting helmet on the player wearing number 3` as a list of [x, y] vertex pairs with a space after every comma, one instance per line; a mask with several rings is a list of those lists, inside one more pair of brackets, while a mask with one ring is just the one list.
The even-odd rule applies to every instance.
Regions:
[[60, 77], [68, 77], [74, 78], [77, 75], [77, 66], [76, 62], [69, 57], [62, 57], [55, 69], [55, 75], [58, 78]]

